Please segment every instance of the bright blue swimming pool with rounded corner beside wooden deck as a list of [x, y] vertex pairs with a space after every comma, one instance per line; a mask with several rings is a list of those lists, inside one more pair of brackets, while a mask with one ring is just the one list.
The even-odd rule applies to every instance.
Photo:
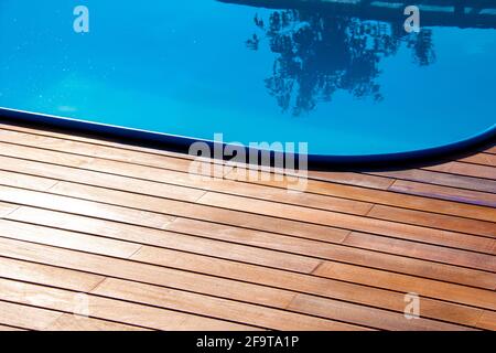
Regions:
[[494, 137], [496, 11], [423, 1], [408, 33], [399, 2], [3, 0], [1, 114], [169, 143], [308, 142], [321, 161]]

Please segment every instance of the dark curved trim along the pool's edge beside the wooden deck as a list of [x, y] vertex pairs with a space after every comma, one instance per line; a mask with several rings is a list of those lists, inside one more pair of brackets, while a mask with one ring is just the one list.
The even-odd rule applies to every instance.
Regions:
[[[182, 153], [188, 153], [190, 147], [194, 142], [207, 143], [212, 149], [218, 147], [219, 145], [218, 142], [213, 140], [140, 130], [101, 122], [79, 120], [74, 118], [60, 117], [40, 113], [31, 113], [4, 107], [0, 107], [0, 118], [9, 121], [21, 121], [37, 126], [48, 126], [86, 133], [94, 133], [107, 138], [114, 137], [119, 139], [127, 139], [128, 141], [120, 141], [120, 142], [123, 143], [133, 142], [137, 145], [145, 145], [151, 148], [170, 149]], [[443, 158], [450, 154], [470, 152], [468, 149], [475, 149], [477, 146], [484, 146], [495, 139], [496, 139], [496, 124], [494, 124], [490, 128], [484, 130], [481, 133], [440, 147], [407, 152], [382, 153], [382, 154], [362, 154], [362, 156], [309, 154], [306, 159], [309, 168], [315, 170], [326, 170], [336, 167], [354, 167], [354, 168], [397, 167], [412, 162], [432, 162], [433, 159], [435, 158]], [[223, 148], [226, 146], [233, 145], [222, 143]], [[246, 146], [244, 146], [242, 148], [247, 153], [254, 151], [267, 153], [267, 150], [252, 149]], [[277, 153], [273, 151], [269, 152], [271, 153], [271, 158], [273, 158], [273, 156]], [[284, 153], [284, 154], [291, 154], [291, 157], [293, 157], [295, 159], [295, 162], [298, 163], [299, 161], [298, 154], [295, 156], [293, 153]]]

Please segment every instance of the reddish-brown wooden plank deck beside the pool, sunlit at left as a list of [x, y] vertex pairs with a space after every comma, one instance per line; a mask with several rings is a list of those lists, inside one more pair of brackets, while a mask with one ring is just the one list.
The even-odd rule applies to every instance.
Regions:
[[0, 330], [496, 329], [496, 147], [305, 193], [190, 162], [0, 124]]

